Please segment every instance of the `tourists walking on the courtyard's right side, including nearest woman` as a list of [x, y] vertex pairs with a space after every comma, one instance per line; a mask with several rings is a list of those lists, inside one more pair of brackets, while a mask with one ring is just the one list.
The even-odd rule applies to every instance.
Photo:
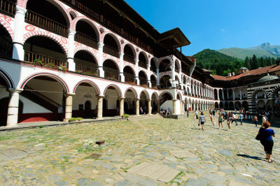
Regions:
[[[210, 121], [213, 124], [213, 127], [215, 127], [215, 111], [216, 110], [209, 110], [209, 115], [210, 115]], [[201, 112], [200, 113], [200, 117], [198, 117], [198, 111], [195, 111], [195, 116], [194, 118], [198, 119], [198, 125], [202, 126], [202, 131], [204, 131], [204, 123], [206, 122], [206, 118], [204, 116], [204, 113]], [[238, 118], [240, 119], [240, 124], [243, 125], [243, 118], [244, 118], [244, 113], [239, 111], [238, 114]], [[237, 117], [235, 115], [235, 112], [226, 112], [225, 110], [220, 110], [220, 113], [218, 114], [218, 126], [219, 129], [220, 127], [223, 128], [223, 122], [226, 120], [227, 124], [228, 124], [228, 129], [229, 131], [231, 131], [231, 124], [232, 122], [235, 122], [237, 125]], [[257, 115], [255, 115], [253, 117], [253, 122], [255, 124], [255, 127], [257, 127], [257, 123], [258, 123], [258, 117]], [[266, 155], [266, 159], [267, 162], [271, 163], [274, 162], [274, 160], [272, 160], [272, 148], [274, 145], [273, 142], [273, 138], [275, 137], [275, 132], [273, 129], [269, 129], [270, 127], [270, 123], [268, 122], [268, 117], [266, 114], [262, 115], [262, 125], [258, 131], [258, 136], [260, 140], [260, 143], [262, 144], [262, 146], [264, 147], [265, 150], [265, 155]], [[256, 138], [257, 139], [257, 138]]]

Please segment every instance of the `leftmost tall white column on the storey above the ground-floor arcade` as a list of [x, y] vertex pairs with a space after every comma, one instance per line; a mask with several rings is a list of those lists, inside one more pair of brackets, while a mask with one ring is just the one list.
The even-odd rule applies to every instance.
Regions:
[[[13, 35], [13, 59], [25, 60], [25, 50], [23, 50], [23, 34], [25, 31], [25, 13], [27, 10], [16, 6], [14, 35]], [[18, 121], [17, 121], [18, 123]]]

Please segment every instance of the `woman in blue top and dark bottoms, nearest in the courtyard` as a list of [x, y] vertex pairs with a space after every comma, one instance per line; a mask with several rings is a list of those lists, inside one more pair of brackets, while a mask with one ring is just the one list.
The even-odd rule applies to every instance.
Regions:
[[274, 145], [272, 136], [275, 137], [275, 133], [273, 129], [269, 129], [270, 123], [269, 122], [264, 122], [263, 127], [265, 128], [260, 128], [258, 133], [260, 134], [260, 143], [263, 145], [265, 149], [265, 154], [267, 155], [267, 161], [269, 163], [273, 162], [271, 159], [272, 156], [272, 147]]

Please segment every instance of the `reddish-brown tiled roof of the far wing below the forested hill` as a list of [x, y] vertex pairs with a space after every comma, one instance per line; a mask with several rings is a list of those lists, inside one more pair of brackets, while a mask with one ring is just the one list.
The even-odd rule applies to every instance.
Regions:
[[255, 76], [255, 75], [260, 75], [260, 74], [267, 74], [267, 73], [272, 73], [275, 71], [280, 71], [280, 66], [279, 65], [272, 65], [272, 66], [265, 66], [260, 69], [254, 69], [251, 71], [246, 71], [244, 73], [238, 74], [237, 76], [231, 76], [231, 77], [224, 77], [224, 76], [217, 76], [217, 75], [212, 75], [212, 77], [215, 80], [237, 80], [239, 78], [245, 77], [245, 76]]

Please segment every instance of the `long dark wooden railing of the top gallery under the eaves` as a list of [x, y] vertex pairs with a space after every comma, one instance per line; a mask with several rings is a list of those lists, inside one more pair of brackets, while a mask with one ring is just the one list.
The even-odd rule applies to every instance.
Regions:
[[146, 43], [144, 43], [144, 41], [141, 41], [141, 39], [137, 38], [136, 36], [133, 36], [133, 34], [130, 34], [129, 32], [125, 31], [123, 28], [118, 27], [116, 24], [111, 22], [108, 17], [104, 17], [104, 15], [97, 13], [96, 11], [83, 5], [83, 3], [80, 0], [60, 0], [60, 1], [64, 1], [66, 3], [71, 4], [71, 6], [74, 6], [78, 10], [94, 18], [94, 20], [102, 22], [113, 31], [116, 31], [118, 34], [124, 36], [125, 38], [132, 41], [133, 43], [136, 43], [141, 48], [144, 48], [145, 50], [153, 53], [153, 48], [151, 48], [150, 45], [147, 45]]

